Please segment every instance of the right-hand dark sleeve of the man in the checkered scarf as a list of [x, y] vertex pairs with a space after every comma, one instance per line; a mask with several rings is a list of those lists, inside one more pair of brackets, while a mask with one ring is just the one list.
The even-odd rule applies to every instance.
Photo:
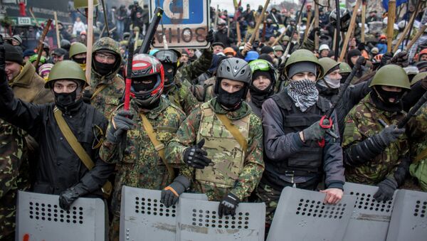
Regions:
[[[337, 123], [337, 115], [332, 113], [334, 123]], [[334, 132], [339, 136], [339, 130], [334, 124]], [[342, 148], [340, 139], [334, 139], [330, 135], [325, 136], [325, 148], [323, 150], [323, 170], [325, 171], [325, 184], [327, 188], [343, 189], [344, 178], [344, 163], [342, 158]]]

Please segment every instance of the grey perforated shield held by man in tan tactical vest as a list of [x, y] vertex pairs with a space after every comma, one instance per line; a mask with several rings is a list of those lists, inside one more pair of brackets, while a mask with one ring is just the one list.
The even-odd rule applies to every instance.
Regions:
[[183, 199], [175, 241], [262, 241], [265, 232], [265, 203], [239, 203], [236, 215], [218, 216], [218, 202]]

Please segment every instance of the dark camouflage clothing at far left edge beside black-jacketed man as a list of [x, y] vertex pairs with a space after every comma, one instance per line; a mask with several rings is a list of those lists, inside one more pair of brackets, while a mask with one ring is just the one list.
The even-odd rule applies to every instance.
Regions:
[[18, 190], [27, 190], [24, 132], [0, 119], [0, 240], [14, 240]]

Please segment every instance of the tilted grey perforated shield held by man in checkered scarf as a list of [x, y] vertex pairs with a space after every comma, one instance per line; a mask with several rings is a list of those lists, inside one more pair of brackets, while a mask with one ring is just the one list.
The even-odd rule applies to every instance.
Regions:
[[283, 188], [267, 240], [346, 240], [344, 232], [356, 198], [344, 195], [337, 205], [326, 205], [323, 204], [325, 193]]

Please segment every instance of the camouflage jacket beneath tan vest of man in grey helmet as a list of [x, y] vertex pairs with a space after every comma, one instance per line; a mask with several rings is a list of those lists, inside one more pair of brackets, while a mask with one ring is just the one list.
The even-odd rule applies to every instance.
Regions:
[[[253, 189], [258, 185], [264, 170], [263, 129], [261, 121], [251, 112], [251, 108], [246, 102], [243, 102], [242, 107], [235, 112], [227, 112], [216, 102], [216, 99], [212, 99], [208, 103], [216, 114], [226, 114], [226, 117], [232, 121], [243, 119], [248, 115], [250, 116], [247, 139], [248, 149], [244, 156], [243, 168], [233, 188], [202, 185], [199, 181], [195, 180], [195, 170], [189, 166], [182, 167], [180, 173], [193, 182], [192, 191], [196, 193], [205, 193], [209, 200], [221, 200], [229, 192], [233, 193], [241, 200], [244, 200], [251, 195]], [[184, 149], [196, 144], [201, 124], [201, 114], [202, 109], [198, 107], [194, 109], [194, 111], [189, 114], [189, 117], [181, 124], [178, 132], [176, 132], [176, 137], [167, 145], [166, 158], [168, 161], [171, 161], [173, 164], [184, 163]], [[208, 132], [214, 132], [214, 130], [208, 130]], [[216, 151], [221, 153], [221, 150]], [[209, 155], [208, 157], [211, 159], [220, 158], [219, 156]], [[215, 160], [213, 160], [213, 162], [215, 162]]]

